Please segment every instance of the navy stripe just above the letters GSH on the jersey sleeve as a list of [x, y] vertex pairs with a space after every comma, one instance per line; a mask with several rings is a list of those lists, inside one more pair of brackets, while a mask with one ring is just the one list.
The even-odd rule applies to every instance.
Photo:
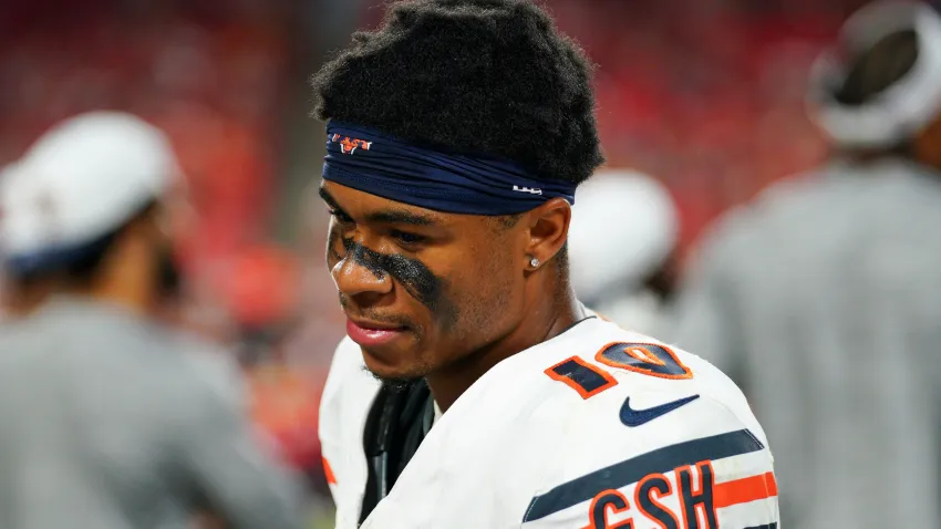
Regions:
[[740, 429], [658, 448], [572, 479], [534, 497], [523, 522], [538, 520], [588, 501], [602, 490], [627, 487], [650, 474], [663, 474], [700, 461], [751, 454], [764, 447], [751, 432]]

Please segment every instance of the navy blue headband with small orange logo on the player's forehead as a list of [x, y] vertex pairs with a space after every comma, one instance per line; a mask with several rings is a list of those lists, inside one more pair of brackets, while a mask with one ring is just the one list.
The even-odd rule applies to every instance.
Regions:
[[510, 162], [447, 154], [331, 121], [323, 179], [435, 211], [513, 215], [550, 198], [575, 204], [575, 184], [548, 180]]

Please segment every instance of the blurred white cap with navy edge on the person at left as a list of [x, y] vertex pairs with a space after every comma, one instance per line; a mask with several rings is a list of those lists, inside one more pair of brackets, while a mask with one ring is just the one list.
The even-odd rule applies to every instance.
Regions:
[[166, 135], [136, 116], [66, 120], [0, 175], [0, 255], [35, 259], [94, 242], [161, 198], [178, 175]]

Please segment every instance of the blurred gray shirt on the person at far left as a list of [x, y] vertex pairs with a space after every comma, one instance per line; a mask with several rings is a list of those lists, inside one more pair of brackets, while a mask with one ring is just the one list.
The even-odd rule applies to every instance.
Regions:
[[0, 326], [0, 527], [300, 527], [237, 372], [203, 343], [60, 299]]

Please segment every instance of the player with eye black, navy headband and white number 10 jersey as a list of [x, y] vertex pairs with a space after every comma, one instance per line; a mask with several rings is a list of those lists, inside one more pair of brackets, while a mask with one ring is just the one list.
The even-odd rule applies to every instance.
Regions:
[[353, 40], [313, 80], [349, 318], [320, 423], [337, 527], [774, 527], [735, 386], [572, 293], [601, 163], [575, 44], [521, 0], [400, 2]]

